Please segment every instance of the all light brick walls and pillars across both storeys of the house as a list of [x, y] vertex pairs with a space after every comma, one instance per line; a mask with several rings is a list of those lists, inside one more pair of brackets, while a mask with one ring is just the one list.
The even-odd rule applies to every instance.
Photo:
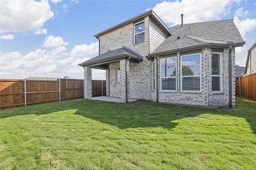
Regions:
[[[128, 99], [143, 99], [156, 101], [156, 90], [152, 90], [152, 61], [146, 59], [146, 55], [150, 52], [150, 33], [148, 17], [144, 18], [145, 23], [145, 39], [144, 42], [134, 44], [134, 25], [127, 24], [121, 28], [115, 29], [112, 32], [100, 36], [100, 53], [108, 52], [109, 50], [127, 46], [134, 52], [143, 56], [143, 61], [140, 63], [127, 62], [127, 79], [128, 79]], [[201, 49], [201, 91], [200, 92], [181, 92], [180, 79], [180, 62], [181, 54], [176, 53], [176, 92], [166, 92], [160, 90], [160, 60], [158, 66], [158, 89], [159, 102], [174, 103], [186, 105], [201, 105], [201, 106], [227, 106], [229, 104], [229, 69], [228, 58], [229, 49], [224, 49], [221, 60], [221, 75], [222, 75], [222, 92], [212, 92], [212, 49]], [[232, 104], [235, 105], [235, 50], [232, 49]], [[111, 97], [121, 97], [122, 102], [126, 101], [126, 79], [125, 79], [125, 59], [109, 64], [109, 74], [106, 70], [106, 94]], [[117, 82], [117, 67], [121, 70], [121, 80]], [[155, 69], [155, 75], [156, 75]], [[91, 69], [85, 67], [85, 98], [92, 97], [91, 90]], [[157, 81], [157, 79], [156, 79]], [[156, 84], [155, 84], [156, 85]], [[155, 86], [155, 89], [157, 87]], [[108, 90], [109, 89], [109, 90]]]

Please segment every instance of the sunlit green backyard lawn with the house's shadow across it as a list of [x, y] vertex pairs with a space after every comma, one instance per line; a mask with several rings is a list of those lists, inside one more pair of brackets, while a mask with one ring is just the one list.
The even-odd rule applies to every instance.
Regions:
[[1, 169], [254, 169], [256, 103], [69, 100], [0, 111]]

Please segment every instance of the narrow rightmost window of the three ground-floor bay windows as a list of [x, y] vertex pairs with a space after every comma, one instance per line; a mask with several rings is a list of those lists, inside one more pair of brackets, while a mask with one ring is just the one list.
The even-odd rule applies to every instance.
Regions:
[[212, 91], [221, 91], [221, 54], [212, 53]]

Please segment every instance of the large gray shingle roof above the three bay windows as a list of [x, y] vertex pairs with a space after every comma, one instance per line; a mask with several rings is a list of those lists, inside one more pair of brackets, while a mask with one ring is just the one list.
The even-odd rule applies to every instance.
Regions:
[[[184, 27], [175, 25], [170, 30], [174, 35], [164, 40], [153, 53], [210, 43], [228, 44], [228, 41], [233, 41], [233, 44], [236, 44], [244, 42], [233, 19], [190, 23], [184, 24]], [[178, 36], [181, 36], [180, 39], [177, 39]]]

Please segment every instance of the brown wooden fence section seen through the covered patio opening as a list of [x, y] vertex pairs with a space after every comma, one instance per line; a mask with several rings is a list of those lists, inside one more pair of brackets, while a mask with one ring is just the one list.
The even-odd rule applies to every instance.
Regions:
[[92, 80], [92, 96], [106, 96], [106, 80]]

